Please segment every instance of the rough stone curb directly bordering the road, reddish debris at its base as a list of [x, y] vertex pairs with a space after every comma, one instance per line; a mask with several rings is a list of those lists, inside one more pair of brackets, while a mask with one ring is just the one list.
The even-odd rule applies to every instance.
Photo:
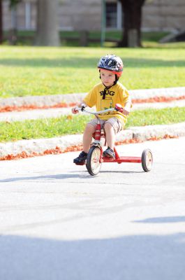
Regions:
[[[185, 122], [173, 125], [147, 125], [145, 127], [130, 127], [117, 134], [116, 141], [122, 143], [129, 141], [147, 141], [151, 139], [164, 139], [185, 136]], [[20, 158], [52, 153], [65, 153], [74, 151], [74, 146], [82, 145], [82, 134], [66, 135], [51, 139], [20, 140], [0, 144], [0, 160], [7, 160], [17, 155]], [[70, 149], [71, 148], [71, 149]], [[11, 157], [10, 157], [11, 156]]]

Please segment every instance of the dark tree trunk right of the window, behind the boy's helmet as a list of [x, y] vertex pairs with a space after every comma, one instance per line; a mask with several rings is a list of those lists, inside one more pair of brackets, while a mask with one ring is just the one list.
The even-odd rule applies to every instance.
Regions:
[[142, 6], [145, 0], [119, 0], [124, 15], [124, 28], [119, 47], [141, 46]]

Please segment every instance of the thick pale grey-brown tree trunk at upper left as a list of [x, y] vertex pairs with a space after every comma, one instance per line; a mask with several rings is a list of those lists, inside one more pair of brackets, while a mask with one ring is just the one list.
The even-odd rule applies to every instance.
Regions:
[[36, 45], [60, 45], [58, 0], [37, 0]]

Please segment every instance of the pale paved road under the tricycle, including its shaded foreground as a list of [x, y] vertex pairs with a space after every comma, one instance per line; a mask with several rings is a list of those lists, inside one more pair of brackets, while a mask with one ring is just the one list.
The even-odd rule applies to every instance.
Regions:
[[154, 153], [140, 164], [104, 164], [77, 153], [0, 162], [0, 279], [184, 279], [185, 138], [119, 146]]

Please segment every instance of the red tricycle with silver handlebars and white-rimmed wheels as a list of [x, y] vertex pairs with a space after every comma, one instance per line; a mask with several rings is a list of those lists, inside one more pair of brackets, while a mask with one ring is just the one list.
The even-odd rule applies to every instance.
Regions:
[[[116, 104], [114, 108], [105, 109], [103, 111], [88, 111], [84, 109], [84, 106], [76, 107], [77, 111], [82, 111], [83, 113], [90, 113], [96, 116], [98, 123], [96, 125], [96, 131], [93, 134], [94, 142], [91, 143], [91, 148], [89, 149], [89, 153], [87, 154], [87, 161], [85, 163], [76, 164], [76, 165], [84, 165], [86, 164], [87, 171], [91, 176], [97, 175], [100, 172], [102, 162], [117, 162], [121, 164], [121, 162], [135, 162], [142, 163], [142, 169], [145, 172], [149, 172], [151, 170], [151, 166], [153, 163], [153, 156], [149, 149], [145, 149], [142, 151], [141, 157], [131, 157], [131, 156], [119, 156], [117, 153], [117, 149], [114, 147], [115, 158], [107, 158], [103, 157], [103, 146], [106, 145], [105, 132], [101, 129], [100, 119], [98, 115], [106, 113], [108, 111], [120, 111], [122, 110], [121, 105]], [[104, 143], [102, 141], [104, 139]]]

